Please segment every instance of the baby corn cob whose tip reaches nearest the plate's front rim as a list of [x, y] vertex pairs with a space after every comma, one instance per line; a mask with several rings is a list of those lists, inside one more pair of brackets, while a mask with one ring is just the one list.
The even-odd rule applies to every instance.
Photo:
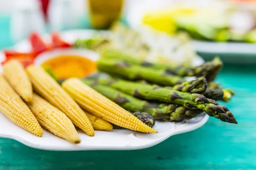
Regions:
[[32, 102], [28, 102], [27, 105], [42, 127], [69, 142], [81, 142], [73, 123], [58, 108], [37, 94], [33, 94]]

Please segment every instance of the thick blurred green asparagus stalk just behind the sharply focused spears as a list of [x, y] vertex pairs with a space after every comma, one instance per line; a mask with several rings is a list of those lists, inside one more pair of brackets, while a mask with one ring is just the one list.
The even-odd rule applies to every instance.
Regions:
[[164, 70], [156, 70], [152, 68], [142, 67], [140, 65], [131, 65], [127, 62], [116, 60], [100, 59], [97, 62], [99, 71], [103, 71], [112, 75], [122, 76], [125, 79], [140, 80], [145, 79], [148, 82], [172, 86], [185, 82], [182, 77], [169, 74]]

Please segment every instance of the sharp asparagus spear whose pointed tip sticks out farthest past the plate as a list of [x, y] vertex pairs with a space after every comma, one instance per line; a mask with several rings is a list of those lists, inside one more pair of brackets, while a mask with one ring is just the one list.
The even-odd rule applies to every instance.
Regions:
[[111, 82], [99, 79], [98, 82], [140, 99], [180, 104], [191, 110], [201, 109], [209, 116], [214, 116], [223, 122], [237, 123], [233, 114], [225, 106], [219, 105], [215, 100], [207, 99], [201, 94], [183, 93], [154, 85], [143, 85], [120, 79]]

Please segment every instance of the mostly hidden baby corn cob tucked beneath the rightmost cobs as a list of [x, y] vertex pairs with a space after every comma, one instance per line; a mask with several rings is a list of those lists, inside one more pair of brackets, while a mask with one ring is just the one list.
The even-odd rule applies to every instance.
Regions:
[[94, 130], [112, 130], [113, 129], [113, 126], [111, 125], [111, 123], [97, 116], [94, 116], [86, 111], [84, 113], [87, 115], [90, 122], [92, 123]]

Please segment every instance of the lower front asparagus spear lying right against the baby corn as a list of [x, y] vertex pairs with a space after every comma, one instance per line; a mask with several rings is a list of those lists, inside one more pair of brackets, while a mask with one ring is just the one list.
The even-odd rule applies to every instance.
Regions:
[[122, 93], [108, 86], [99, 85], [92, 79], [82, 79], [82, 81], [87, 85], [90, 85], [94, 90], [98, 91], [102, 95], [111, 99], [113, 102], [116, 102], [122, 108], [125, 108], [131, 112], [141, 111], [149, 113], [157, 120], [181, 122], [185, 119], [191, 119], [203, 112], [199, 109], [190, 110], [177, 104], [155, 105], [145, 100], [137, 99], [133, 96]]

